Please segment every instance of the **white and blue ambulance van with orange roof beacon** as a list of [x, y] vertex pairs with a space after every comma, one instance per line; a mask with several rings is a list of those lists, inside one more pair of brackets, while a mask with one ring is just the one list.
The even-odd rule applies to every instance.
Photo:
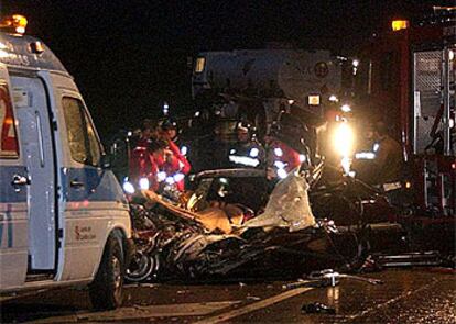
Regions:
[[95, 308], [116, 308], [128, 202], [72, 76], [18, 31], [0, 32], [0, 292], [89, 284]]

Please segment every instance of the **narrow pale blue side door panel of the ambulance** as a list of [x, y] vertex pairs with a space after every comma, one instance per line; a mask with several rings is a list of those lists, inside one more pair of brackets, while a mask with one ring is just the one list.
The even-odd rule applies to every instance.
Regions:
[[56, 267], [56, 157], [47, 86], [36, 72], [10, 71], [23, 160], [29, 171], [29, 272]]

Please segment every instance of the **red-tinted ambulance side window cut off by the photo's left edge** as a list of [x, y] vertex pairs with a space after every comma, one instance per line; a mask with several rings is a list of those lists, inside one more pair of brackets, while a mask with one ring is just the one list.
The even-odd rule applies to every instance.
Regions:
[[15, 134], [15, 122], [8, 87], [0, 83], [0, 158], [19, 157]]

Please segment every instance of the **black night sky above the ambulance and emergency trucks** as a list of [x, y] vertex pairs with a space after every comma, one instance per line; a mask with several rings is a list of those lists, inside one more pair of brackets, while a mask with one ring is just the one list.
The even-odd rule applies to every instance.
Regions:
[[454, 1], [0, 0], [75, 77], [102, 137], [189, 100], [187, 57], [267, 42], [351, 48], [393, 16]]

